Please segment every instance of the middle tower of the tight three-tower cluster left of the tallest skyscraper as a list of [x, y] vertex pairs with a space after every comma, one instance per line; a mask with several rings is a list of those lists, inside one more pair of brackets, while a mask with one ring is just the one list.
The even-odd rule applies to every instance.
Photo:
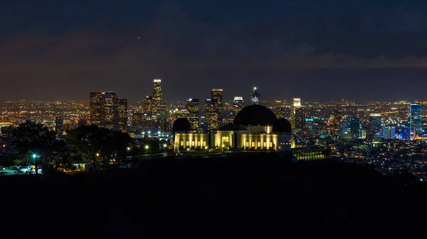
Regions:
[[102, 92], [104, 100], [104, 123], [102, 126], [110, 130], [118, 129], [117, 121], [117, 96], [115, 91]]

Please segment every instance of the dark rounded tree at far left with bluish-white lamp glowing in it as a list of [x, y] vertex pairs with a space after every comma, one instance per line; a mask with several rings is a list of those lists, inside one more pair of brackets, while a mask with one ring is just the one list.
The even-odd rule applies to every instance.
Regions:
[[41, 123], [25, 121], [14, 129], [14, 137], [18, 149], [18, 160], [34, 163], [37, 174], [38, 163], [50, 159], [53, 155], [55, 131], [49, 130]]

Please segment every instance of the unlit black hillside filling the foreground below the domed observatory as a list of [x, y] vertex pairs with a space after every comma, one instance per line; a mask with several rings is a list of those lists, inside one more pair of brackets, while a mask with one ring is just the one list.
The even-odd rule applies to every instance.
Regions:
[[[157, 160], [94, 176], [0, 177], [0, 238], [285, 238], [421, 229], [426, 189], [333, 161]], [[423, 227], [422, 227], [423, 228]]]

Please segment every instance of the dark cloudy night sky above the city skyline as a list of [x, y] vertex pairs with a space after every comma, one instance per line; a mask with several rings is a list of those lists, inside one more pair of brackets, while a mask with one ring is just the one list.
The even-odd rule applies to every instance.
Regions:
[[14, 0], [0, 100], [427, 99], [427, 1]]

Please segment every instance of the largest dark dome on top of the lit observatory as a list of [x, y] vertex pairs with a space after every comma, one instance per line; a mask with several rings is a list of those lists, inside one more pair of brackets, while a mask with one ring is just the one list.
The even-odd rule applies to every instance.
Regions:
[[234, 117], [233, 123], [236, 126], [273, 126], [277, 119], [275, 113], [267, 107], [253, 104], [239, 111]]

